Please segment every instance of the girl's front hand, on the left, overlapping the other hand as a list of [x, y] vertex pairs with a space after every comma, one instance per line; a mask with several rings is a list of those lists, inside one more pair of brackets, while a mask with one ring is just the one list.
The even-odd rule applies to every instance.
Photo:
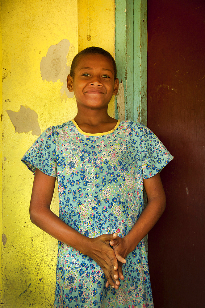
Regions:
[[86, 254], [100, 265], [107, 278], [106, 286], [111, 285], [113, 288], [119, 287], [118, 261], [114, 250], [110, 247], [109, 242], [117, 237], [117, 233], [102, 234], [95, 238], [90, 238], [90, 245]]

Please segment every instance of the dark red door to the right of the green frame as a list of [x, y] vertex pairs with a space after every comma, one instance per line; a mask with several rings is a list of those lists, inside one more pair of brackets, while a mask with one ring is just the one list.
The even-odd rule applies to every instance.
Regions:
[[148, 235], [155, 308], [205, 307], [205, 1], [148, 0], [148, 127], [174, 160]]

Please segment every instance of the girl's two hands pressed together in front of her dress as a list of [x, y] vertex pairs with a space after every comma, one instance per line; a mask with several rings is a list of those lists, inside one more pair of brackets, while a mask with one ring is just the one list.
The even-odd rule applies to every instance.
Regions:
[[[126, 263], [128, 245], [125, 237], [118, 237], [117, 233], [102, 234], [92, 238], [87, 255], [100, 265], [107, 278], [106, 287], [111, 285], [119, 288], [119, 279], [123, 280], [122, 265]], [[111, 246], [112, 247], [111, 247]]]

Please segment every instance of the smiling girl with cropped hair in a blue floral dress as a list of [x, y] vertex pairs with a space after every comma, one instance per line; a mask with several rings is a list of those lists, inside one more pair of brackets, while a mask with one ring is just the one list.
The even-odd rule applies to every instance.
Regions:
[[153, 307], [143, 237], [165, 209], [159, 171], [173, 157], [143, 124], [107, 114], [118, 86], [107, 51], [77, 54], [67, 78], [76, 117], [45, 130], [22, 159], [35, 174], [31, 221], [59, 240], [55, 308]]

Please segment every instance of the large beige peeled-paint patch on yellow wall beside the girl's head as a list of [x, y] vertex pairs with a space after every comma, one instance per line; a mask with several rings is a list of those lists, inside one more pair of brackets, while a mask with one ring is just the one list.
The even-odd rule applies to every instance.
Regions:
[[[70, 42], [68, 39], [63, 39], [56, 45], [51, 45], [45, 57], [42, 57], [40, 62], [40, 72], [43, 80], [52, 81], [53, 83], [60, 80], [63, 86], [60, 91], [61, 101], [67, 98], [72, 98], [74, 93], [69, 92], [67, 88], [67, 76], [70, 73], [70, 66], [67, 65], [68, 58], [73, 54], [72, 47], [69, 50]], [[75, 50], [74, 50], [75, 51]]]

